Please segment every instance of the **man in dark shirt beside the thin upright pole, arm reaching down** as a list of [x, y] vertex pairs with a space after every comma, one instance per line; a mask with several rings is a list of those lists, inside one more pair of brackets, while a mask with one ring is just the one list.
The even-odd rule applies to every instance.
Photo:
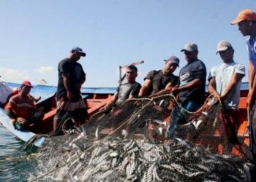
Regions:
[[100, 111], [108, 111], [112, 106], [119, 105], [127, 99], [135, 98], [138, 96], [141, 85], [136, 82], [138, 76], [138, 68], [134, 65], [130, 65], [126, 70], [127, 83], [121, 84], [117, 88], [113, 98], [103, 107]]

